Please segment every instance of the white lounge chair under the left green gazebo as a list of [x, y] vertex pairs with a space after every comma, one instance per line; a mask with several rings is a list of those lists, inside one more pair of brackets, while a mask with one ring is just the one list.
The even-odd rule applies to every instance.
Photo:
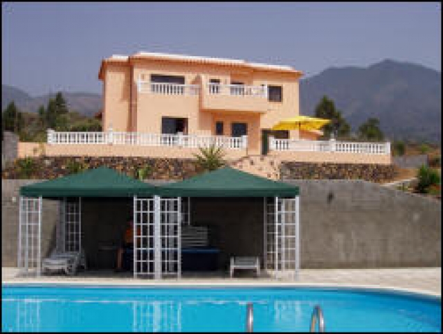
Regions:
[[83, 249], [81, 252], [60, 252], [55, 249], [51, 256], [42, 261], [43, 272], [62, 270], [72, 276], [77, 272], [78, 267], [87, 268]]

